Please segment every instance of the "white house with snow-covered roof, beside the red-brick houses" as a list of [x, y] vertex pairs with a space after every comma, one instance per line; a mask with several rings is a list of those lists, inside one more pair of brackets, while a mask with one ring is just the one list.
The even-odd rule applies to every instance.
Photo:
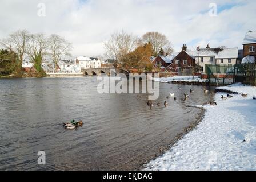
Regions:
[[238, 58], [238, 48], [217, 47], [210, 48], [209, 44], [206, 48], [196, 49], [195, 63], [201, 68], [201, 72], [205, 72], [206, 64], [235, 64]]

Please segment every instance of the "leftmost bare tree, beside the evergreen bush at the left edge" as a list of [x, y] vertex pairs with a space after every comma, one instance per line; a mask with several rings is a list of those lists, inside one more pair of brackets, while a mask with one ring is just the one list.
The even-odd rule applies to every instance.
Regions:
[[27, 30], [18, 30], [10, 34], [7, 39], [1, 41], [2, 47], [17, 53], [20, 66], [22, 65], [22, 61], [25, 60], [28, 39], [29, 32]]

